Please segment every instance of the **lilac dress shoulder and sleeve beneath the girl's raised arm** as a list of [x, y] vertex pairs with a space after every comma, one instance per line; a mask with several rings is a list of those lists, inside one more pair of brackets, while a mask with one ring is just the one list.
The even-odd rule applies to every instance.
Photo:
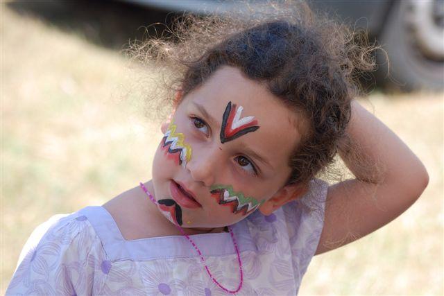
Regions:
[[289, 254], [293, 266], [303, 275], [321, 238], [328, 187], [321, 179], [311, 180], [309, 190], [301, 198], [284, 204], [269, 216], [259, 211], [250, 215], [248, 231], [257, 249]]

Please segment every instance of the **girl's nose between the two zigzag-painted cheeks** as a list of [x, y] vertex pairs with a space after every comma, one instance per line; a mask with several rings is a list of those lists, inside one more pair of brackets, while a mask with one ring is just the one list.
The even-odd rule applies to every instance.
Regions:
[[194, 181], [200, 182], [205, 186], [214, 184], [214, 174], [219, 169], [217, 162], [219, 149], [205, 148], [199, 152], [194, 150], [191, 160], [187, 163], [187, 169]]

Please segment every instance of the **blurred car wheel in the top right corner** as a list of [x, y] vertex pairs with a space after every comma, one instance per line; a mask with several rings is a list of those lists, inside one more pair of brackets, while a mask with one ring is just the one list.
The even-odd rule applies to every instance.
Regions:
[[[411, 92], [418, 89], [433, 91], [444, 90], [444, 57], [440, 53], [431, 56], [421, 46], [421, 38], [417, 28], [423, 26], [418, 20], [425, 16], [418, 15], [417, 7], [411, 1], [395, 1], [388, 13], [386, 24], [379, 35], [379, 44], [388, 55], [388, 62], [383, 51], [376, 54], [378, 71], [377, 80], [386, 89]], [[430, 17], [431, 18], [431, 17]], [[438, 28], [441, 29], [441, 28]], [[424, 33], [424, 31], [423, 31]], [[434, 36], [436, 37], [436, 36]], [[436, 41], [436, 40], [435, 40]], [[440, 41], [438, 39], [438, 41]], [[441, 35], [444, 44], [444, 36]], [[422, 42], [423, 43], [423, 42]], [[440, 43], [434, 45], [441, 46]], [[422, 48], [421, 48], [422, 47]], [[444, 51], [444, 48], [443, 48]]]

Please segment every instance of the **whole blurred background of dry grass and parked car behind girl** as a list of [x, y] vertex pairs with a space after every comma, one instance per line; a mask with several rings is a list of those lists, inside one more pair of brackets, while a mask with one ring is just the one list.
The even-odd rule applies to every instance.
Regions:
[[[32, 230], [151, 178], [162, 137], [124, 54], [184, 10], [236, 1], [1, 1], [1, 294]], [[377, 232], [315, 256], [300, 295], [443, 295], [443, 1], [313, 1], [368, 29], [389, 56], [359, 98], [427, 167], [418, 202]], [[159, 31], [157, 31], [159, 33]], [[155, 110], [153, 110], [155, 112]]]

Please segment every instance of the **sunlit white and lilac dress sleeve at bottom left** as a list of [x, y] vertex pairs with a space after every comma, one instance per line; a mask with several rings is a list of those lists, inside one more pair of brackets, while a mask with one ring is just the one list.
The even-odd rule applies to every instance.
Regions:
[[26, 241], [6, 295], [91, 295], [98, 245], [85, 216], [51, 217]]

